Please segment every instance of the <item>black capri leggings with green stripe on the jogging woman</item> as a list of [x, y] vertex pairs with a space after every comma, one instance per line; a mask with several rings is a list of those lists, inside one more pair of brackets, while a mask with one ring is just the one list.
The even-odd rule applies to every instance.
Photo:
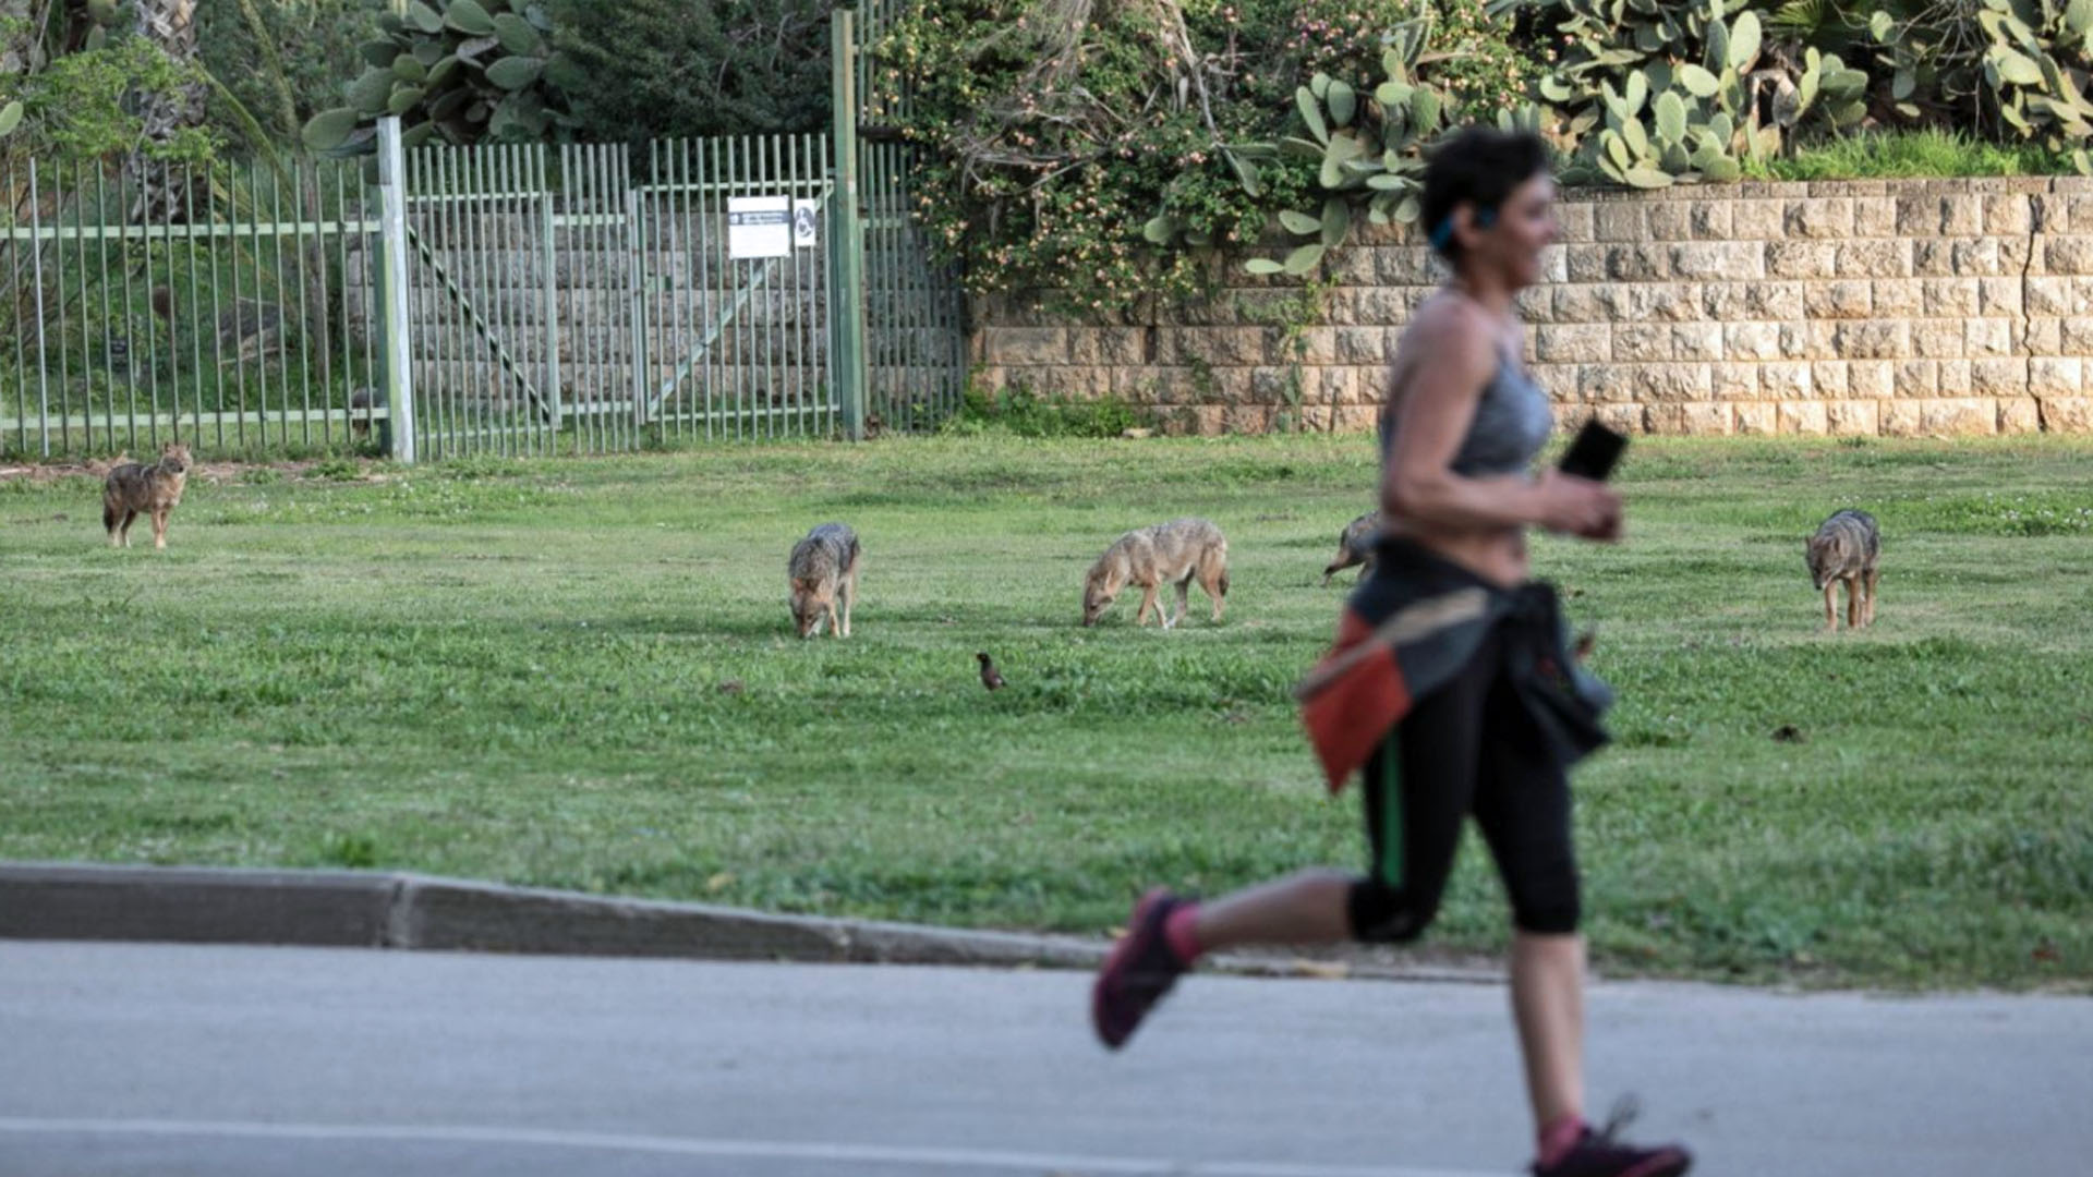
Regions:
[[1367, 760], [1371, 871], [1352, 884], [1352, 934], [1415, 940], [1438, 915], [1461, 821], [1473, 813], [1522, 932], [1578, 928], [1570, 779], [1517, 697], [1505, 630], [1402, 716]]

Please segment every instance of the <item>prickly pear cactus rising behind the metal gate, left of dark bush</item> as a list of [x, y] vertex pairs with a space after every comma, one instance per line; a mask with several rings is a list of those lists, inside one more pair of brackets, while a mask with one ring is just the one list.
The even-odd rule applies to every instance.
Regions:
[[525, 0], [414, 0], [379, 17], [381, 40], [362, 48], [350, 105], [306, 124], [306, 147], [329, 155], [370, 151], [381, 115], [400, 115], [406, 145], [542, 142], [573, 119], [567, 92], [586, 80], [553, 52], [553, 21]]

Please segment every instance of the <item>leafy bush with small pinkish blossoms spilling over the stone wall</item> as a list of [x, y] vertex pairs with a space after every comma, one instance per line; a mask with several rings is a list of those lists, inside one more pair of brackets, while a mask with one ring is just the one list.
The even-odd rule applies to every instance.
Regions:
[[[1070, 13], [921, 0], [875, 50], [877, 88], [908, 92], [885, 117], [927, 149], [915, 178], [931, 241], [973, 291], [1038, 291], [1055, 310], [1206, 291], [1212, 251], [1258, 241], [1281, 212], [1302, 218], [1296, 232], [1342, 241], [1348, 214], [1340, 226], [1298, 209], [1333, 195], [1365, 207], [1381, 188], [1358, 170], [1331, 174], [1327, 155], [1360, 147], [1365, 165], [1365, 136], [1379, 159], [1392, 130], [1409, 161], [1392, 178], [1417, 161], [1421, 138], [1383, 119], [1375, 96], [1398, 36], [1421, 50], [1404, 65], [1413, 82], [1444, 94], [1430, 126], [1494, 117], [1528, 75], [1511, 25], [1473, 0], [1099, 0], [1082, 25]], [[1350, 103], [1335, 128], [1308, 111], [1333, 92]], [[1377, 212], [1394, 214], [1400, 195]], [[1321, 258], [1304, 249], [1293, 272]]]

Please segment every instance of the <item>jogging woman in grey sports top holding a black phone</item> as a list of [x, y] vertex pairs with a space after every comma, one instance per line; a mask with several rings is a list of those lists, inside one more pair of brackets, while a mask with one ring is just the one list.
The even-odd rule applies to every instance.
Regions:
[[1476, 817], [1511, 898], [1511, 1009], [1536, 1125], [1536, 1177], [1674, 1177], [1683, 1148], [1637, 1148], [1584, 1120], [1584, 938], [1568, 769], [1605, 741], [1605, 689], [1563, 643], [1555, 593], [1528, 580], [1526, 530], [1614, 540], [1603, 484], [1532, 473], [1553, 427], [1524, 371], [1515, 295], [1555, 241], [1547, 147], [1463, 130], [1434, 151], [1423, 218], [1453, 276], [1417, 308], [1381, 415], [1373, 576], [1304, 683], [1333, 790], [1363, 779], [1371, 867], [1302, 871], [1210, 903], [1136, 907], [1093, 993], [1118, 1049], [1178, 974], [1243, 945], [1409, 942], [1438, 913]]

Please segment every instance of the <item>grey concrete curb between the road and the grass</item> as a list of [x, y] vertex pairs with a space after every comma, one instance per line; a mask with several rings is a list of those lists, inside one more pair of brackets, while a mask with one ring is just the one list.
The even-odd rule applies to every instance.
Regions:
[[[774, 915], [391, 871], [0, 863], [0, 938], [306, 945], [712, 961], [1090, 970], [1109, 945]], [[1218, 972], [1501, 980], [1463, 965], [1226, 957]]]

